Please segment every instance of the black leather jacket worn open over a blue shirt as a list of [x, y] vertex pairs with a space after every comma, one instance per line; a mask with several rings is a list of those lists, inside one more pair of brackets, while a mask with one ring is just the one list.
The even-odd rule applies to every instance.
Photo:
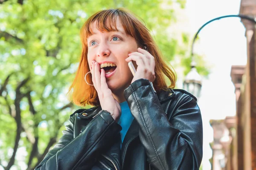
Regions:
[[35, 170], [198, 170], [203, 129], [196, 98], [176, 89], [156, 94], [147, 79], [124, 94], [134, 121], [121, 150], [122, 127], [107, 111], [79, 109]]

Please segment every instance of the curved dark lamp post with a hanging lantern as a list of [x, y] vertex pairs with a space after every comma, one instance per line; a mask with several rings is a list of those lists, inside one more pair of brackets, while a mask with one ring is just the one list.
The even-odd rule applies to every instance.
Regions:
[[196, 68], [195, 68], [195, 61], [194, 61], [194, 43], [196, 38], [198, 37], [199, 32], [209, 23], [215, 21], [215, 20], [220, 20], [222, 18], [227, 18], [227, 17], [239, 17], [241, 19], [245, 19], [245, 20], [249, 20], [252, 23], [256, 24], [256, 20], [247, 16], [247, 15], [225, 15], [222, 17], [217, 17], [214, 18], [212, 20], [209, 20], [207, 23], [205, 23], [203, 26], [201, 26], [201, 28], [198, 29], [197, 33], [195, 34], [195, 37], [193, 39], [192, 42], [192, 48], [191, 48], [191, 58], [192, 58], [192, 62], [191, 62], [191, 70], [189, 71], [189, 73], [186, 75], [185, 80], [183, 82], [183, 88], [184, 90], [188, 91], [189, 93], [193, 94], [194, 96], [196, 96], [197, 98], [200, 97], [201, 95], [201, 88], [202, 88], [202, 78], [201, 76], [198, 74]]

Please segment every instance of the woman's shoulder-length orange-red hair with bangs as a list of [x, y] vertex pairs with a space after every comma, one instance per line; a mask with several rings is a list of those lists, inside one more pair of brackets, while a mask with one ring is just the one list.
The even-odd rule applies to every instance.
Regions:
[[[156, 91], [167, 90], [174, 88], [176, 82], [176, 74], [163, 60], [162, 54], [154, 42], [150, 31], [138, 20], [131, 12], [123, 8], [102, 10], [93, 14], [81, 28], [80, 36], [82, 43], [82, 53], [79, 62], [79, 68], [76, 71], [76, 77], [69, 88], [72, 92], [72, 100], [76, 105], [99, 105], [99, 98], [94, 86], [87, 85], [84, 81], [84, 76], [90, 71], [87, 61], [87, 37], [92, 35], [91, 24], [96, 21], [96, 28], [100, 31], [117, 31], [116, 19], [119, 18], [122, 23], [125, 33], [133, 37], [137, 45], [146, 46], [148, 51], [155, 58], [155, 76], [153, 82]], [[166, 84], [165, 76], [170, 80], [171, 85]], [[87, 74], [87, 82], [93, 84], [91, 74]]]

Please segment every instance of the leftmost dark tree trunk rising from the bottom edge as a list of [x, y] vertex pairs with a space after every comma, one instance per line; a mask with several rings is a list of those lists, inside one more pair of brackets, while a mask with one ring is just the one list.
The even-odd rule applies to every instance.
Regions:
[[18, 149], [18, 146], [19, 146], [19, 141], [20, 141], [20, 133], [21, 133], [21, 110], [20, 110], [20, 101], [22, 99], [22, 97], [24, 96], [24, 94], [21, 94], [20, 93], [20, 88], [26, 84], [26, 82], [29, 80], [29, 78], [27, 79], [24, 79], [22, 82], [20, 82], [19, 85], [17, 85], [17, 88], [16, 88], [16, 97], [15, 97], [15, 100], [14, 100], [14, 104], [15, 104], [15, 112], [16, 112], [16, 116], [15, 116], [15, 122], [16, 122], [16, 125], [17, 125], [17, 132], [16, 132], [16, 137], [15, 137], [15, 144], [14, 144], [14, 147], [13, 147], [13, 153], [12, 153], [12, 157], [10, 158], [9, 160], [9, 163], [7, 165], [7, 167], [5, 168], [5, 170], [10, 170], [10, 168], [12, 167], [12, 165], [14, 164], [15, 162], [15, 155], [17, 153], [17, 149]]

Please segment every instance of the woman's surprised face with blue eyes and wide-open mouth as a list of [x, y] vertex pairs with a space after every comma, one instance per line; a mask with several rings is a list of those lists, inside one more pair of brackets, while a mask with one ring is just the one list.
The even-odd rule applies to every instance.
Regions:
[[129, 53], [137, 51], [137, 43], [133, 37], [125, 33], [118, 18], [116, 20], [118, 31], [101, 32], [96, 28], [96, 22], [92, 23], [91, 28], [93, 34], [87, 38], [89, 66], [94, 60], [101, 65], [101, 68], [105, 67], [108, 88], [113, 93], [120, 93], [131, 84], [133, 75], [125, 59]]

